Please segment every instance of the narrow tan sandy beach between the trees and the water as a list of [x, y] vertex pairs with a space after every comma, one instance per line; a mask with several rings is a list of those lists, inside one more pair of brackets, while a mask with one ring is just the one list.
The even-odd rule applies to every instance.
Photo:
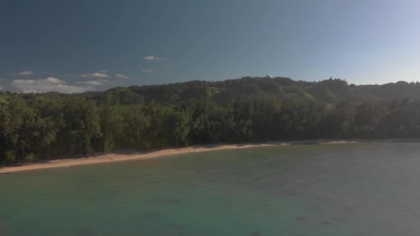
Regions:
[[26, 170], [39, 170], [46, 168], [63, 168], [69, 166], [81, 166], [90, 164], [102, 164], [117, 161], [131, 161], [140, 159], [150, 159], [155, 157], [164, 157], [172, 155], [182, 155], [189, 153], [203, 153], [213, 150], [229, 150], [229, 149], [242, 149], [242, 148], [256, 148], [264, 146], [287, 146], [287, 145], [307, 145], [307, 144], [357, 144], [357, 143], [372, 143], [372, 142], [403, 142], [403, 141], [419, 141], [418, 139], [381, 139], [381, 140], [304, 140], [304, 141], [269, 141], [261, 144], [211, 144], [202, 146], [189, 146], [186, 148], [168, 148], [162, 150], [155, 150], [149, 152], [133, 152], [129, 154], [110, 153], [98, 155], [95, 157], [79, 157], [69, 159], [55, 159], [50, 161], [38, 161], [34, 163], [22, 164], [20, 166], [6, 166], [0, 167], [0, 174], [2, 173], [15, 173]]

